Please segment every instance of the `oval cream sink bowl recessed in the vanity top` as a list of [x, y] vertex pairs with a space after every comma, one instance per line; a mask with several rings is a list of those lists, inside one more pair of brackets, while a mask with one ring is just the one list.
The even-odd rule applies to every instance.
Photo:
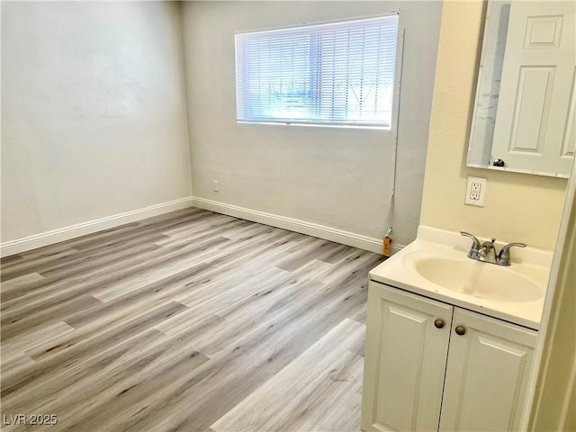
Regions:
[[414, 263], [414, 270], [443, 288], [500, 302], [533, 302], [543, 291], [509, 266], [495, 266], [473, 259], [429, 257]]

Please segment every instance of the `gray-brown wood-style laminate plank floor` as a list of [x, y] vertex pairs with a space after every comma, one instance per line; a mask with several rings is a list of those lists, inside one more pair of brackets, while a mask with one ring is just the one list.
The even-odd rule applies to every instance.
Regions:
[[6, 257], [2, 430], [358, 431], [382, 259], [200, 209]]

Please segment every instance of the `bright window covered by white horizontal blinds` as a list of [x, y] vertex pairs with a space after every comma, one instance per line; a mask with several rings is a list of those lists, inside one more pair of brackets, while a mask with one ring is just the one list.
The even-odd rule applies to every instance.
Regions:
[[390, 128], [398, 14], [236, 35], [238, 121]]

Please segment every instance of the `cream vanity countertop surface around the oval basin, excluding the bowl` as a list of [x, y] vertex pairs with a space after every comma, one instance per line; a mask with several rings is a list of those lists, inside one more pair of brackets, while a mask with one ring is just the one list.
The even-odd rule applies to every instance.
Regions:
[[[482, 242], [484, 238], [480, 240]], [[551, 251], [532, 247], [511, 249], [512, 264], [507, 268], [525, 276], [542, 290], [541, 297], [528, 302], [492, 300], [453, 291], [433, 284], [414, 271], [411, 266], [415, 258], [422, 257], [471, 259], [467, 257], [471, 245], [472, 240], [461, 236], [458, 232], [420, 226], [417, 239], [375, 267], [369, 274], [370, 279], [500, 320], [507, 320], [529, 329], [539, 329], [553, 257]], [[502, 243], [496, 245], [500, 250]], [[478, 265], [494, 266], [480, 262]]]

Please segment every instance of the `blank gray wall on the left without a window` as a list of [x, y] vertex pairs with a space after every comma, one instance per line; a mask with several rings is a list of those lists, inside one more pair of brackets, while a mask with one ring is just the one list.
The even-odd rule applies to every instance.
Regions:
[[2, 239], [191, 195], [180, 6], [2, 3]]

